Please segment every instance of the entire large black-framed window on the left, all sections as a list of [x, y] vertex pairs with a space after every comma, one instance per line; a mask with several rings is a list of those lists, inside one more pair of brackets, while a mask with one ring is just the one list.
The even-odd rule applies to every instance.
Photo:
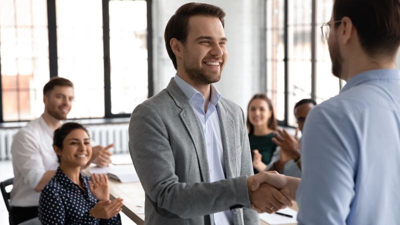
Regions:
[[74, 83], [69, 118], [128, 116], [152, 95], [148, 14], [151, 0], [0, 0], [0, 122], [38, 117], [56, 75]]

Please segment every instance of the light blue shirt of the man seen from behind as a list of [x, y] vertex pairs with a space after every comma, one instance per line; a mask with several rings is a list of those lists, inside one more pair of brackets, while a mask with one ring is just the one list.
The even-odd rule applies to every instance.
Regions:
[[308, 114], [299, 224], [400, 224], [400, 71], [351, 77]]

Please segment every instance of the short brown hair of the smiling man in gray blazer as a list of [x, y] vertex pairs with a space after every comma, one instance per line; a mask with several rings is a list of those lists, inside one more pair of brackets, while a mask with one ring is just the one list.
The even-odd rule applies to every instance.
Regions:
[[171, 16], [168, 23], [165, 27], [164, 32], [164, 40], [166, 51], [168, 52], [169, 57], [172, 60], [173, 66], [177, 69], [176, 65], [176, 56], [172, 51], [171, 46], [169, 45], [169, 41], [172, 38], [176, 38], [179, 41], [185, 43], [187, 37], [187, 23], [189, 21], [190, 16], [193, 15], [206, 15], [206, 16], [214, 16], [218, 17], [222, 23], [222, 27], [224, 27], [224, 17], [225, 12], [222, 8], [205, 3], [195, 3], [190, 2], [183, 4], [176, 11], [175, 14]]

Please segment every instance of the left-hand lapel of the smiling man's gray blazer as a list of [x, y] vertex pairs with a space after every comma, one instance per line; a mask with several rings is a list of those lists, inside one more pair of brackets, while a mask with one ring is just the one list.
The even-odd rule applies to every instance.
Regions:
[[182, 90], [176, 85], [173, 77], [169, 81], [166, 89], [168, 90], [171, 97], [174, 99], [176, 105], [182, 109], [179, 113], [179, 116], [182, 119], [182, 122], [185, 125], [187, 132], [190, 135], [190, 138], [193, 141], [202, 180], [205, 182], [209, 182], [210, 177], [207, 150], [205, 148], [204, 139], [201, 134], [201, 128], [198, 124], [197, 117], [193, 111], [193, 108], [191, 107], [189, 100], [184, 95]]

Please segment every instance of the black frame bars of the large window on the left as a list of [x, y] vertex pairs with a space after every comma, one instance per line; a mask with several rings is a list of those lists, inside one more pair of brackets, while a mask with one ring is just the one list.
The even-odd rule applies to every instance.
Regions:
[[[111, 112], [111, 81], [110, 81], [110, 45], [109, 45], [109, 9], [108, 3], [112, 0], [101, 0], [102, 4], [102, 24], [103, 24], [103, 60], [104, 60], [104, 117], [102, 118], [121, 118], [129, 117], [130, 113], [113, 114]], [[147, 10], [147, 80], [148, 94], [151, 97], [153, 93], [153, 44], [152, 44], [152, 0], [146, 1]], [[55, 0], [47, 0], [47, 29], [48, 29], [48, 60], [49, 73], [51, 77], [58, 75], [58, 55], [57, 55], [57, 27], [56, 27], [56, 6]], [[1, 55], [0, 55], [1, 60]], [[1, 63], [0, 63], [1, 71]], [[0, 74], [0, 87], [1, 74]], [[132, 108], [133, 110], [133, 108]], [[78, 119], [91, 119], [79, 117]], [[93, 118], [99, 119], [99, 118]], [[4, 121], [2, 105], [2, 88], [0, 91], [0, 123], [20, 122], [27, 120]]]

